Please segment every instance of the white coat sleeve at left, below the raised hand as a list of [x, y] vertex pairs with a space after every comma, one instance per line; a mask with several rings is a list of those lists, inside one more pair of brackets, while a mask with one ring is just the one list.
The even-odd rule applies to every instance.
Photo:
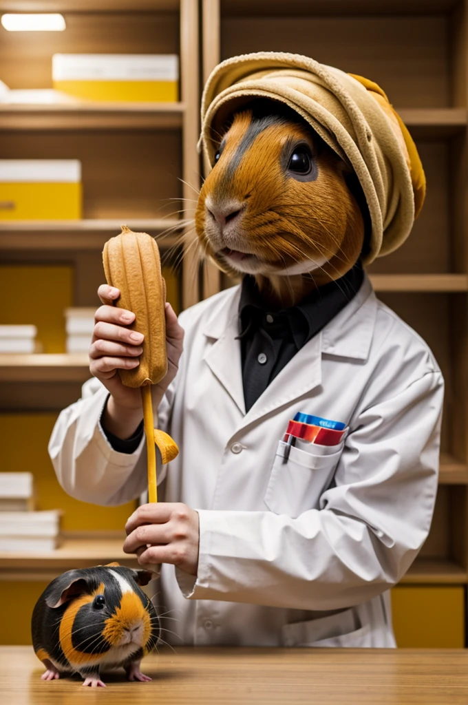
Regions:
[[[173, 385], [159, 407], [159, 428], [170, 415]], [[70, 496], [101, 505], [118, 505], [135, 499], [147, 487], [144, 437], [135, 453], [113, 450], [101, 428], [100, 418], [109, 396], [97, 380], [87, 381], [82, 398], [59, 415], [49, 441], [58, 482]], [[164, 480], [166, 465], [158, 473]]]

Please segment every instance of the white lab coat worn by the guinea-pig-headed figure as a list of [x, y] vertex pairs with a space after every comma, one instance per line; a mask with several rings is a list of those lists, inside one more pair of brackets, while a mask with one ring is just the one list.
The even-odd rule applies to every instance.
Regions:
[[[200, 528], [197, 578], [163, 566], [160, 605], [176, 619], [164, 626], [179, 635], [163, 637], [395, 646], [388, 589], [431, 524], [441, 371], [365, 278], [246, 414], [239, 294], [230, 288], [181, 314], [185, 350], [159, 410], [181, 449], [164, 498], [197, 509]], [[133, 455], [109, 446], [99, 426], [106, 396], [97, 380], [85, 384], [49, 452], [70, 495], [112, 505], [144, 490], [146, 456], [143, 442]], [[284, 464], [278, 441], [297, 412], [346, 422], [349, 434], [328, 455], [291, 448]]]

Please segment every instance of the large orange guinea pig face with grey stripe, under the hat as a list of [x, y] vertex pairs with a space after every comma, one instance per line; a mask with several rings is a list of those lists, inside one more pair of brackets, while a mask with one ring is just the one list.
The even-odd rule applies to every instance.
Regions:
[[236, 114], [199, 195], [202, 247], [232, 275], [343, 276], [364, 240], [347, 171], [305, 123]]

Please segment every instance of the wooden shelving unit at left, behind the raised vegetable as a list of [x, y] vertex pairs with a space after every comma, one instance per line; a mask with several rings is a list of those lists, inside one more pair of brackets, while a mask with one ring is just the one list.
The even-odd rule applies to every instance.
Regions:
[[[97, 307], [97, 286], [104, 278], [100, 251], [125, 223], [158, 240], [164, 266], [173, 266], [179, 278], [179, 303], [187, 307], [196, 302], [197, 253], [187, 249], [181, 264], [180, 259], [200, 176], [199, 0], [0, 0], [0, 14], [7, 11], [58, 11], [67, 24], [65, 32], [47, 36], [0, 28], [0, 79], [12, 89], [51, 88], [54, 53], [178, 54], [180, 97], [179, 102], [161, 104], [0, 104], [0, 158], [80, 159], [84, 196], [80, 221], [0, 222], [2, 264], [71, 266], [71, 305]], [[39, 508], [42, 493], [50, 501], [50, 489], [60, 506], [59, 489], [44, 458], [48, 436], [54, 416], [79, 398], [89, 377], [87, 355], [0, 355], [2, 422], [11, 424], [19, 415], [33, 424], [27, 443], [36, 446], [35, 457], [42, 464]], [[47, 429], [40, 437], [39, 428]], [[24, 469], [8, 460], [1, 465], [1, 470]], [[75, 511], [73, 521], [81, 521], [80, 530], [89, 529], [90, 522], [94, 526], [92, 508], [70, 498], [62, 501]], [[99, 508], [99, 515], [107, 517], [109, 529], [121, 529], [131, 511]], [[122, 551], [123, 538], [95, 532], [88, 538], [68, 536], [50, 553], [2, 553], [1, 594], [17, 599], [25, 582], [42, 590], [44, 581], [70, 568], [113, 560], [137, 567], [135, 557]], [[21, 629], [27, 635], [29, 615], [25, 617]]]

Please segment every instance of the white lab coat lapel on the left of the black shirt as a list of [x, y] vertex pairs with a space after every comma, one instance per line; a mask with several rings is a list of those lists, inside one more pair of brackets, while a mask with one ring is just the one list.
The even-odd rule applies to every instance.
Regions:
[[214, 316], [204, 329], [207, 338], [214, 343], [204, 355], [204, 361], [216, 379], [223, 385], [242, 415], [245, 415], [244, 388], [242, 386], [242, 362], [238, 329], [239, 293], [227, 307], [216, 309]]

